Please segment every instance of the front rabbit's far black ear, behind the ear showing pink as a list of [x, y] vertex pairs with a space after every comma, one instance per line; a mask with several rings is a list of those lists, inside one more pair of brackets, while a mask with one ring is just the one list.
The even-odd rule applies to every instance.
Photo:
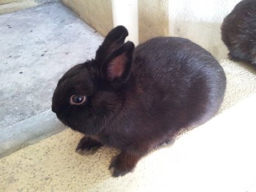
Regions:
[[109, 31], [104, 42], [96, 52], [95, 60], [104, 61], [111, 52], [124, 44], [126, 36], [128, 36], [128, 31], [124, 26], [117, 26]]

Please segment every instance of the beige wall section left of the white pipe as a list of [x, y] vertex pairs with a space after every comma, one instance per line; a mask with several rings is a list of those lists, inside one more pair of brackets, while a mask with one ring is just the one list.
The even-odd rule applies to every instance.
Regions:
[[63, 0], [63, 3], [102, 35], [113, 28], [111, 0]]

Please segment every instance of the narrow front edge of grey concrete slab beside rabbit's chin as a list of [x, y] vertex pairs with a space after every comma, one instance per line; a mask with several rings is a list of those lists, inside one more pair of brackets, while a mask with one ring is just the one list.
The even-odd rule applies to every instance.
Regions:
[[0, 129], [0, 158], [57, 134], [65, 128], [51, 110], [4, 127]]

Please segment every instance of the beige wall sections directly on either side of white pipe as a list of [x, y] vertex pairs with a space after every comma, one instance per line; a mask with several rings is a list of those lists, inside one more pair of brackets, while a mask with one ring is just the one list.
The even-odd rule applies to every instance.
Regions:
[[[138, 0], [139, 40], [168, 35], [168, 0]], [[113, 28], [111, 0], [63, 0], [63, 3], [102, 35]]]

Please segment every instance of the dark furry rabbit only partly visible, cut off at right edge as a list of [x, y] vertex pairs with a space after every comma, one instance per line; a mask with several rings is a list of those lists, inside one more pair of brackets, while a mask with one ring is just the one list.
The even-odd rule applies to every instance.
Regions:
[[246, 61], [256, 67], [256, 1], [244, 0], [225, 17], [221, 38], [231, 60]]

